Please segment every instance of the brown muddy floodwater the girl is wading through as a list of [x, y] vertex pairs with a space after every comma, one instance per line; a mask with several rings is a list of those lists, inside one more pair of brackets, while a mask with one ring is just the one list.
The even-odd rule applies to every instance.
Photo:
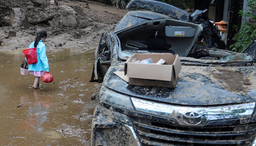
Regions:
[[84, 53], [47, 52], [52, 83], [20, 74], [23, 49], [0, 53], [0, 146], [90, 145], [98, 88], [90, 83], [92, 50]]

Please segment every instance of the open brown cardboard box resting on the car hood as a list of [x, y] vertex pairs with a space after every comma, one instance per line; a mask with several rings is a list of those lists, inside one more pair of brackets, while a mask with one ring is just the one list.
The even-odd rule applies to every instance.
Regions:
[[[153, 63], [135, 63], [132, 62], [134, 58], [140, 61], [151, 58]], [[166, 61], [165, 64], [155, 64], [161, 58]], [[129, 85], [175, 88], [180, 70], [181, 62], [177, 54], [135, 53], [125, 62], [124, 75], [129, 77]]]

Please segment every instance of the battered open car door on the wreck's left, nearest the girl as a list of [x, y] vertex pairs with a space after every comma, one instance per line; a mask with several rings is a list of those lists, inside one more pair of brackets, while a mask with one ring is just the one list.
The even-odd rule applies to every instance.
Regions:
[[103, 78], [111, 65], [112, 54], [113, 43], [111, 42], [109, 32], [107, 30], [103, 30], [99, 39], [98, 47], [93, 52], [95, 62], [90, 82], [103, 81]]

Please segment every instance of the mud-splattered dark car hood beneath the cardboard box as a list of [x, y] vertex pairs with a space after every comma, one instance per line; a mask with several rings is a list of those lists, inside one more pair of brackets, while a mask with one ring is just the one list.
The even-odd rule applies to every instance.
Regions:
[[103, 85], [131, 97], [180, 105], [220, 105], [256, 101], [255, 66], [182, 65], [176, 88], [129, 85], [117, 76], [124, 72], [124, 61], [115, 61]]

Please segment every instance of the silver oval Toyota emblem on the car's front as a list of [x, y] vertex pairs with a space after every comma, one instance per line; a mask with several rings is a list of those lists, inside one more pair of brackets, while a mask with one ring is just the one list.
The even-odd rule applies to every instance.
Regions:
[[198, 112], [188, 111], [183, 114], [182, 120], [188, 125], [195, 126], [202, 122], [202, 115]]

